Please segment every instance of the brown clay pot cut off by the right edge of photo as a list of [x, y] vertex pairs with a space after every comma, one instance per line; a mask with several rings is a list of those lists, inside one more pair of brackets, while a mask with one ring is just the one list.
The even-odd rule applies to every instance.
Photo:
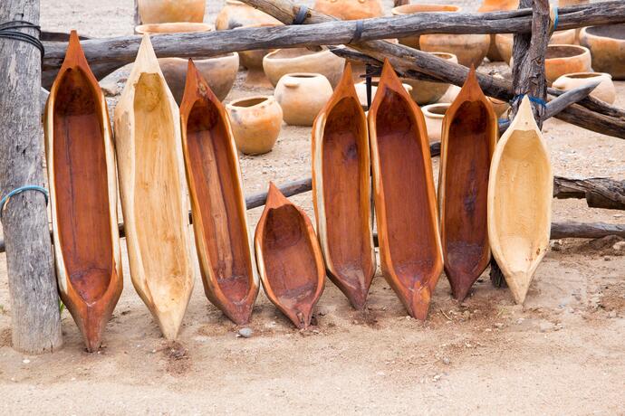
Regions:
[[584, 27], [580, 43], [591, 50], [595, 71], [625, 80], [625, 24]]

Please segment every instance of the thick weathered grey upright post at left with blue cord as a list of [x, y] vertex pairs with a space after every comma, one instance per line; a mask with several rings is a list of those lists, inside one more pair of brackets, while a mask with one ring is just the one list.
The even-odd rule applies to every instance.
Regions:
[[[39, 24], [39, 0], [2, 0], [0, 23]], [[14, 31], [37, 35], [34, 28]], [[43, 185], [41, 52], [0, 37], [0, 194]], [[11, 296], [13, 346], [27, 354], [63, 345], [59, 298], [43, 194], [17, 194], [2, 216]]]

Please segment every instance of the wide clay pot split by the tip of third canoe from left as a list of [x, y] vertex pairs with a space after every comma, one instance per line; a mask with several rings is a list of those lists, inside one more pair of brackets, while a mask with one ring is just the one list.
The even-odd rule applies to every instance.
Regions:
[[[193, 60], [193, 63], [217, 99], [220, 101], [226, 99], [228, 92], [235, 85], [236, 72], [239, 71], [238, 54], [226, 53], [212, 58]], [[179, 106], [185, 94], [188, 61], [182, 58], [159, 58], [159, 66]]]

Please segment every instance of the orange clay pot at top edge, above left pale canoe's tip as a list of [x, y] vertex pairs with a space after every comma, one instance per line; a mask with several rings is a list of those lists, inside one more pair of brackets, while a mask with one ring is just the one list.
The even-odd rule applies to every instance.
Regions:
[[143, 24], [204, 22], [206, 0], [139, 0]]

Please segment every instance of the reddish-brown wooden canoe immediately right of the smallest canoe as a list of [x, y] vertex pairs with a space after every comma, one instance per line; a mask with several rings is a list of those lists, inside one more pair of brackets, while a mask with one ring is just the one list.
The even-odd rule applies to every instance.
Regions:
[[349, 63], [312, 126], [312, 195], [328, 275], [362, 309], [376, 262], [367, 118]]

